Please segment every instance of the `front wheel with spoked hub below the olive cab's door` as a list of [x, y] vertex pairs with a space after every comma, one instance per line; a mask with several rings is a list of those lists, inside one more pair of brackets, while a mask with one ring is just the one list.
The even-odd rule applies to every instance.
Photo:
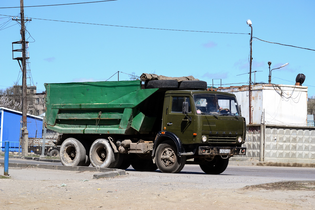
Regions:
[[178, 156], [173, 141], [164, 141], [158, 145], [155, 162], [163, 173], [178, 173], [185, 166], [186, 156]]

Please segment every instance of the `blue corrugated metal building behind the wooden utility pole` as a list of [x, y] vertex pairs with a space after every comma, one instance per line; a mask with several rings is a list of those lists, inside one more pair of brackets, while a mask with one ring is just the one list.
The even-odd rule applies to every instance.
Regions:
[[[22, 112], [0, 107], [0, 150], [9, 141], [9, 151], [19, 151]], [[27, 114], [28, 138], [42, 138], [43, 117]]]

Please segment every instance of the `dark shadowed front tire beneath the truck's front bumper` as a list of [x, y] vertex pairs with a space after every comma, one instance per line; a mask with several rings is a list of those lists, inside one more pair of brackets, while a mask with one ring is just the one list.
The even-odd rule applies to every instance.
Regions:
[[212, 161], [199, 165], [201, 170], [207, 174], [220, 174], [223, 173], [229, 164], [229, 159], [223, 159], [220, 156], [216, 156]]

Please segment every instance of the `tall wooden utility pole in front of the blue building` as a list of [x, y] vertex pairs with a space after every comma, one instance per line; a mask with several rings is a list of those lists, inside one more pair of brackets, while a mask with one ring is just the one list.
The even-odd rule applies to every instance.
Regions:
[[[21, 21], [21, 40], [18, 42], [12, 43], [12, 59], [17, 60], [19, 62], [20, 68], [22, 70], [22, 156], [27, 156], [28, 153], [28, 131], [27, 131], [27, 118], [26, 118], [26, 60], [29, 59], [29, 57], [26, 56], [26, 40], [25, 40], [25, 19], [24, 19], [24, 2], [23, 0], [20, 0], [20, 16], [21, 19], [16, 21]], [[31, 19], [26, 19], [26, 21], [31, 21]], [[22, 49], [13, 49], [13, 44], [21, 44]], [[14, 52], [21, 52], [22, 57], [14, 58]], [[22, 66], [20, 64], [20, 61], [22, 63]]]

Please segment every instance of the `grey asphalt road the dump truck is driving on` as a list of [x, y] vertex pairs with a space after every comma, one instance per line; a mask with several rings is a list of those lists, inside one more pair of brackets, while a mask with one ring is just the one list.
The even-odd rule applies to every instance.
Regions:
[[[4, 157], [0, 157], [0, 162], [4, 161]], [[9, 162], [13, 163], [29, 163], [29, 164], [45, 164], [45, 165], [62, 165], [61, 163], [39, 162], [23, 159], [11, 159]], [[92, 165], [90, 165], [92, 167]], [[135, 171], [132, 167], [126, 171]], [[158, 173], [157, 170], [154, 173]], [[143, 172], [139, 172], [143, 173]], [[161, 173], [158, 173], [161, 174]], [[179, 174], [205, 174], [198, 165], [186, 165]], [[236, 177], [243, 179], [281, 179], [281, 180], [315, 180], [315, 168], [311, 167], [273, 167], [273, 166], [232, 166], [229, 165], [227, 169], [220, 174], [225, 177]]]

